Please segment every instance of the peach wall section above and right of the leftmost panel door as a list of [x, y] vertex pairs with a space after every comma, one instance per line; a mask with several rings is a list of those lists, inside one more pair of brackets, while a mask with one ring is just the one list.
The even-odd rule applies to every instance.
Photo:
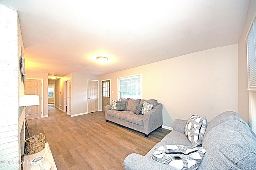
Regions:
[[48, 116], [48, 73], [44, 72], [26, 72], [27, 79], [43, 79], [43, 117]]

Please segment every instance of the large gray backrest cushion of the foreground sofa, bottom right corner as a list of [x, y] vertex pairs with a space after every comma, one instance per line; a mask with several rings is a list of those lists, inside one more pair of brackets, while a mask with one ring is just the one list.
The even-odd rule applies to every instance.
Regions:
[[207, 152], [198, 170], [256, 169], [256, 138], [238, 117], [212, 127], [204, 136], [202, 147]]

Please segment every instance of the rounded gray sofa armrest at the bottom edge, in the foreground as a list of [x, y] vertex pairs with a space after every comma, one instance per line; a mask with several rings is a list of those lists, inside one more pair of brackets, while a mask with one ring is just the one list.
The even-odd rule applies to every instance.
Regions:
[[124, 159], [125, 170], [176, 170], [171, 166], [152, 160], [140, 154], [132, 153]]

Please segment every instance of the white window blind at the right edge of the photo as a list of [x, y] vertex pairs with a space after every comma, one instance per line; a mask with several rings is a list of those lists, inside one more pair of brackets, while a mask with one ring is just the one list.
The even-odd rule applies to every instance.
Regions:
[[256, 90], [256, 25], [255, 20], [252, 24], [247, 43], [247, 70], [248, 70], [248, 87], [247, 90]]

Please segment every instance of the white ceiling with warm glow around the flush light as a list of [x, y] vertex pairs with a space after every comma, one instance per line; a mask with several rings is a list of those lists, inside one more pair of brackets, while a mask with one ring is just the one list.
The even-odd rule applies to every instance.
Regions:
[[[249, 0], [0, 0], [18, 10], [26, 70], [101, 75], [238, 43]], [[108, 57], [105, 64], [97, 56]]]

